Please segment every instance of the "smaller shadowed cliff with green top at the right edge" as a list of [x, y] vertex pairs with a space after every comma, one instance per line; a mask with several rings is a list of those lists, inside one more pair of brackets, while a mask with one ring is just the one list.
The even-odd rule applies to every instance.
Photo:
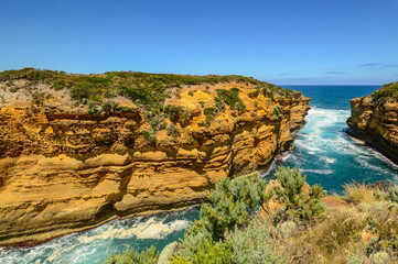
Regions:
[[398, 163], [398, 82], [352, 99], [347, 124], [348, 132]]

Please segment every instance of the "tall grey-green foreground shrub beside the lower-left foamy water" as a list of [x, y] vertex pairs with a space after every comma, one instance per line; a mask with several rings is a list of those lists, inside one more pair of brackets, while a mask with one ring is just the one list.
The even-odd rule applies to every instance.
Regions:
[[256, 177], [222, 178], [211, 193], [209, 205], [201, 207], [201, 218], [185, 230], [179, 255], [191, 261], [201, 242], [224, 241], [225, 234], [241, 227], [259, 204], [269, 199], [266, 182]]

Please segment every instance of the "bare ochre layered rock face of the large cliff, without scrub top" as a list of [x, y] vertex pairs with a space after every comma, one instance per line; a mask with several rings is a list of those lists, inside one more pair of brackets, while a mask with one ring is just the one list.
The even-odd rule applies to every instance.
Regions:
[[[245, 109], [224, 106], [208, 114], [216, 90], [232, 87]], [[183, 107], [184, 120], [161, 120], [151, 133], [157, 124], [149, 121], [158, 119], [133, 106], [95, 116], [66, 108], [54, 95], [40, 105], [8, 103], [0, 109], [0, 244], [197, 204], [217, 179], [266, 168], [290, 150], [310, 99], [256, 89], [245, 82], [182, 87], [165, 103]]]

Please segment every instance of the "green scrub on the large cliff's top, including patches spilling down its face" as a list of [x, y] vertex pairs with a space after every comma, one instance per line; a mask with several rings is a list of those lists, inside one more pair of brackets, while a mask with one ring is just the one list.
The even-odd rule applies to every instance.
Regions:
[[[37, 89], [40, 85], [54, 90], [65, 90], [71, 96], [71, 103], [74, 107], [88, 106], [88, 113], [98, 116], [115, 112], [141, 111], [144, 119], [151, 124], [151, 129], [143, 131], [143, 136], [151, 143], [155, 143], [155, 133], [166, 129], [169, 119], [174, 124], [180, 123], [184, 128], [189, 124], [191, 112], [181, 106], [168, 105], [166, 98], [180, 98], [183, 87], [193, 85], [205, 85], [206, 92], [211, 85], [223, 82], [251, 84], [256, 87], [255, 92], [250, 92], [251, 98], [259, 95], [270, 97], [272, 100], [299, 96], [299, 92], [283, 89], [275, 85], [256, 80], [251, 77], [237, 75], [227, 76], [193, 76], [173, 74], [146, 74], [137, 72], [109, 72], [98, 75], [66, 74], [56, 70], [40, 70], [34, 68], [23, 68], [19, 70], [6, 70], [0, 73], [0, 82], [6, 85], [11, 92], [15, 92], [22, 87], [15, 85], [18, 80], [24, 80], [23, 88], [32, 96], [32, 102], [43, 106], [50, 94]], [[4, 87], [3, 87], [4, 88]], [[194, 96], [196, 90], [190, 90], [189, 95]], [[204, 109], [205, 120], [202, 125], [208, 127], [214, 117], [224, 112], [227, 107], [233, 111], [244, 112], [246, 107], [239, 97], [239, 88], [217, 89], [214, 91], [214, 106]], [[25, 92], [25, 91], [24, 91]], [[118, 106], [112, 98], [125, 97], [131, 100], [132, 105]], [[200, 102], [202, 108], [204, 102]], [[179, 135], [175, 125], [168, 128], [168, 134], [173, 138]]]

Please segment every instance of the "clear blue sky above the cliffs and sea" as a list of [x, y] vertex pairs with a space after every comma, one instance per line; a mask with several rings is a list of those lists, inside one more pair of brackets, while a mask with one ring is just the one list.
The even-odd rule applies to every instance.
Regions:
[[398, 0], [1, 0], [0, 70], [398, 80]]

